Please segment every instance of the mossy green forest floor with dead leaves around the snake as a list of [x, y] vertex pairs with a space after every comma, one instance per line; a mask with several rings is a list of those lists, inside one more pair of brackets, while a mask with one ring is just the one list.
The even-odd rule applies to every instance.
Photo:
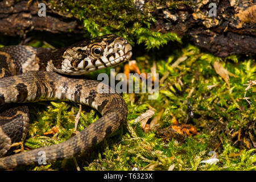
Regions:
[[[255, 60], [250, 56], [221, 59], [191, 44], [143, 49], [134, 48], [131, 60], [141, 72], [159, 73], [155, 99], [148, 99], [150, 93], [123, 93], [127, 120], [109, 138], [76, 160], [16, 169], [255, 170]], [[124, 64], [115, 67], [115, 73], [123, 72]], [[110, 75], [110, 68], [87, 77], [97, 80], [99, 73]], [[79, 105], [57, 101], [28, 105], [31, 125], [25, 150], [71, 137]], [[100, 117], [96, 110], [82, 106], [77, 130]], [[57, 133], [46, 135], [54, 126]], [[208, 159], [216, 163], [201, 162]]]

